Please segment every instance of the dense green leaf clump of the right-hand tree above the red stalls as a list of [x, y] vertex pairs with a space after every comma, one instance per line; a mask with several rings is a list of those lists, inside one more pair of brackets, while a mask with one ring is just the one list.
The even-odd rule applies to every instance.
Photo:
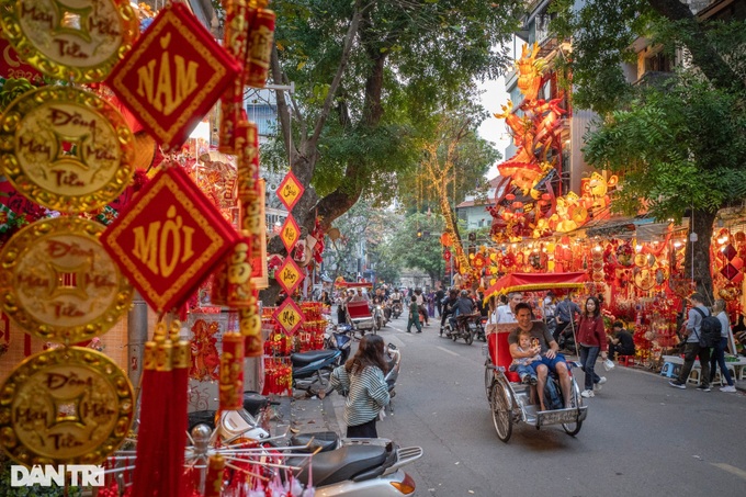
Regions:
[[[744, 27], [732, 23], [709, 32], [713, 46], [742, 75]], [[669, 35], [664, 27], [659, 33]], [[636, 87], [634, 95], [587, 135], [584, 148], [590, 163], [623, 173], [618, 206], [636, 212], [646, 205], [658, 218], [678, 219], [692, 206], [714, 212], [746, 196], [743, 91], [715, 87], [689, 68], [659, 87]]]

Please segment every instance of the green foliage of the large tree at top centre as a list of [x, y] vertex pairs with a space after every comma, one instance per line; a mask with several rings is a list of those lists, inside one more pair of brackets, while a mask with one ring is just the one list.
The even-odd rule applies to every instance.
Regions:
[[[349, 0], [272, 3], [283, 77], [295, 82], [295, 144], [310, 136], [321, 115], [358, 5]], [[417, 169], [418, 143], [427, 137], [432, 114], [472, 95], [477, 79], [508, 67], [507, 50], [496, 47], [509, 39], [521, 5], [519, 0], [366, 3], [321, 137], [314, 149], [301, 150], [314, 162], [316, 191], [362, 189], [375, 203], [388, 203], [400, 173]], [[474, 117], [485, 116], [482, 110]], [[262, 163], [286, 167], [286, 146], [264, 146]]]

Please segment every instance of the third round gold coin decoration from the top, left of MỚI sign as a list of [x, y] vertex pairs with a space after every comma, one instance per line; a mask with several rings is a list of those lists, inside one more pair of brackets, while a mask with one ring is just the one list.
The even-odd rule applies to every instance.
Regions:
[[133, 287], [99, 237], [78, 217], [26, 226], [0, 253], [2, 312], [43, 340], [77, 343], [109, 330], [129, 309]]

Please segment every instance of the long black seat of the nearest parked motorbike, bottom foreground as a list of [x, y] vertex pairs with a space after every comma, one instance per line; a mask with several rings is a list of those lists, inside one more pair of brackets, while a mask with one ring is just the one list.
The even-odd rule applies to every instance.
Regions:
[[[380, 466], [387, 455], [386, 448], [381, 445], [342, 445], [335, 451], [319, 452], [310, 464], [314, 485], [320, 487], [351, 479]], [[287, 464], [293, 465], [290, 461]], [[298, 473], [297, 478], [304, 485], [308, 483], [307, 466]]]

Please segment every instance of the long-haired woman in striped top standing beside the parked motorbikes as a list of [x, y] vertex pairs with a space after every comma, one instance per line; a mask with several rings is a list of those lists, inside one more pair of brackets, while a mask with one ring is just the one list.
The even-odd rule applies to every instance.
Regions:
[[347, 438], [378, 438], [375, 423], [391, 402], [383, 338], [364, 335], [358, 351], [331, 372], [331, 387], [344, 395]]

